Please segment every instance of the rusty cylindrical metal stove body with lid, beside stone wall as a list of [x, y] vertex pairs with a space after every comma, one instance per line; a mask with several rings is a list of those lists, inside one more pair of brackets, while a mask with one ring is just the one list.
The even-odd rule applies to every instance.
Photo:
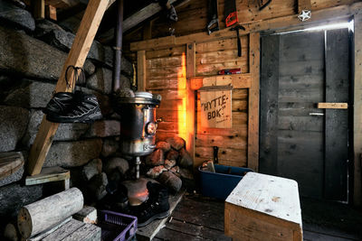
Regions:
[[120, 115], [120, 151], [130, 156], [143, 156], [155, 149], [156, 108], [160, 100], [148, 92], [136, 92], [136, 97], [118, 99]]

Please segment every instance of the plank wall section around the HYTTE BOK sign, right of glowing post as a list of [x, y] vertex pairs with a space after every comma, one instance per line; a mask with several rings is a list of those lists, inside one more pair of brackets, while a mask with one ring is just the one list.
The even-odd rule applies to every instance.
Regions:
[[[242, 36], [242, 57], [237, 56], [236, 38], [196, 43], [196, 76], [216, 75], [219, 70], [241, 68], [249, 72], [249, 35]], [[200, 95], [197, 95], [200, 107]], [[213, 160], [213, 146], [219, 147], [219, 163], [247, 165], [248, 89], [234, 88], [232, 93], [233, 128], [203, 128], [197, 111], [195, 163]]]

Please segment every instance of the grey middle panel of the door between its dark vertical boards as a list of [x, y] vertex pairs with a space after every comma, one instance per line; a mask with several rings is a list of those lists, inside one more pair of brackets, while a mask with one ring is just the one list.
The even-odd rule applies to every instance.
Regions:
[[[279, 105], [296, 103], [299, 111], [307, 111], [296, 116], [295, 107], [280, 109], [278, 175], [298, 181], [301, 196], [322, 198], [324, 120], [310, 116], [310, 112], [320, 112], [315, 103], [324, 100], [324, 32], [281, 35], [280, 48]], [[294, 60], [291, 49], [306, 52], [309, 57]], [[284, 84], [288, 78], [292, 81]]]

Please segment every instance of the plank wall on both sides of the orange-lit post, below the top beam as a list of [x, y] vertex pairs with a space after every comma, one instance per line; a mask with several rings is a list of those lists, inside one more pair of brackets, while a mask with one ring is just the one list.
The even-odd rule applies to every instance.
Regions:
[[[219, 70], [241, 68], [249, 72], [249, 35], [243, 35], [242, 57], [237, 56], [237, 39], [195, 43], [195, 76], [214, 76]], [[147, 91], [162, 96], [157, 118], [162, 117], [157, 141], [170, 136], [186, 138], [186, 46], [146, 51]], [[248, 89], [233, 89], [233, 128], [201, 126], [200, 95], [197, 94], [195, 129], [195, 166], [213, 159], [213, 146], [219, 147], [219, 162], [247, 166]], [[191, 140], [189, 140], [191, 141]]]

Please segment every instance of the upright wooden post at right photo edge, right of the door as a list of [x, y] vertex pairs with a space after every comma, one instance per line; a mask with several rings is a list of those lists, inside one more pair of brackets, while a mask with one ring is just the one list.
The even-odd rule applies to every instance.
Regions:
[[355, 66], [353, 107], [354, 195], [356, 206], [362, 206], [361, 154], [362, 154], [362, 14], [355, 15]]

